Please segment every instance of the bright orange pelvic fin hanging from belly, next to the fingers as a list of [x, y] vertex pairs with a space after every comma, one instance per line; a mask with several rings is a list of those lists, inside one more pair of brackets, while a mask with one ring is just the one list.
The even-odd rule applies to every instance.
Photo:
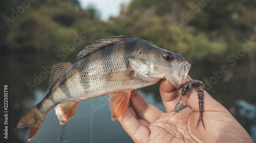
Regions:
[[112, 121], [119, 118], [123, 111], [126, 109], [132, 90], [115, 91], [109, 94], [110, 111], [112, 115]]

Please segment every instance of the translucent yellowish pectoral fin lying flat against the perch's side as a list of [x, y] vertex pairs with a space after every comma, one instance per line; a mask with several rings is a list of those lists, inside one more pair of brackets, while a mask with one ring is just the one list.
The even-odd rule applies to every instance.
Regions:
[[103, 80], [132, 80], [135, 79], [134, 77], [135, 71], [127, 70], [123, 72], [112, 72], [109, 74], [105, 74], [100, 77]]

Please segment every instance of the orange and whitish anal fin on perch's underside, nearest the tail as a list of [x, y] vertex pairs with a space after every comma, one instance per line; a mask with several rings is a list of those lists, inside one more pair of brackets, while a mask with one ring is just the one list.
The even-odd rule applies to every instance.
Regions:
[[55, 113], [59, 119], [59, 124], [64, 125], [74, 117], [79, 102], [62, 102], [55, 106]]

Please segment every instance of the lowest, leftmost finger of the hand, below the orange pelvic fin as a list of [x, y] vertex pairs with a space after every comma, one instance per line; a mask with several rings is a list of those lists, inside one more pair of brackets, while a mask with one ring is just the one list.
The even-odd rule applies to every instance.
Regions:
[[146, 140], [150, 136], [146, 121], [137, 120], [131, 112], [132, 107], [126, 108], [121, 117], [118, 118], [125, 132], [131, 136], [134, 142]]

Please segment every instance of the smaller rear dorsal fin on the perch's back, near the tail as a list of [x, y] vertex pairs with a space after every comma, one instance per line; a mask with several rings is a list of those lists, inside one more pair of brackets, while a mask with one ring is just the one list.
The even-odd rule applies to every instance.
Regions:
[[52, 67], [52, 74], [49, 81], [48, 91], [53, 87], [59, 78], [60, 74], [70, 65], [71, 63], [58, 63]]

